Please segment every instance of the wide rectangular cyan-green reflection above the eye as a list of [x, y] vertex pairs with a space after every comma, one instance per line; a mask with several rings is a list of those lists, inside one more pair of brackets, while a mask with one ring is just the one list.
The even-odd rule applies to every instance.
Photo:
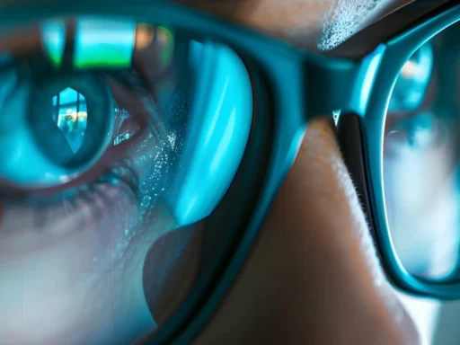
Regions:
[[136, 22], [79, 18], [74, 65], [77, 68], [131, 66], [135, 40]]

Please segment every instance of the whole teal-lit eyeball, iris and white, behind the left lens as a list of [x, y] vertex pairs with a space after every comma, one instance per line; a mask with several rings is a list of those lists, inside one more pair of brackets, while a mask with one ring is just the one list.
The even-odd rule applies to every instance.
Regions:
[[[66, 81], [50, 82], [44, 86], [50, 88], [49, 93], [37, 98], [31, 83], [12, 83], [13, 72], [10, 69], [2, 75], [4, 93], [0, 93], [0, 103], [4, 119], [0, 121], [0, 155], [5, 158], [0, 164], [0, 176], [27, 186], [57, 185], [74, 179], [99, 159], [111, 141], [113, 117], [108, 110], [113, 107], [107, 90], [86, 84], [85, 94], [101, 94], [99, 108], [96, 106], [93, 115], [88, 116], [83, 93], [67, 87]], [[71, 79], [68, 78], [69, 84], [73, 84]]]

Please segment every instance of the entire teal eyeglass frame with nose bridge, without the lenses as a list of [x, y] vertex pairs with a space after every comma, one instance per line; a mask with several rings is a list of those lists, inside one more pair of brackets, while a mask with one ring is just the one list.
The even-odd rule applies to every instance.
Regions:
[[[39, 18], [43, 19], [47, 17], [65, 16], [67, 13], [93, 13], [94, 15], [101, 14], [104, 16], [126, 16], [127, 11], [128, 13], [137, 13], [142, 6], [148, 6], [150, 9], [155, 9], [155, 11], [157, 11], [153, 17], [157, 16], [162, 20], [166, 20], [166, 23], [164, 24], [173, 25], [174, 21], [172, 18], [174, 17], [174, 14], [177, 14], [177, 16], [174, 18], [178, 25], [186, 23], [189, 27], [196, 27], [196, 23], [199, 23], [202, 27], [206, 26], [206, 31], [212, 32], [212, 36], [222, 38], [225, 43], [230, 41], [230, 44], [232, 47], [235, 47], [235, 50], [248, 53], [252, 57], [259, 56], [258, 60], [267, 74], [270, 75], [271, 82], [280, 86], [280, 80], [289, 80], [289, 83], [291, 84], [289, 89], [302, 91], [298, 92], [295, 97], [295, 102], [291, 102], [291, 106], [289, 106], [288, 102], [292, 101], [293, 95], [289, 94], [290, 92], [280, 90], [282, 88], [279, 87], [278, 91], [280, 100], [278, 102], [276, 112], [291, 114], [291, 119], [289, 119], [290, 123], [286, 124], [284, 128], [279, 128], [278, 133], [275, 134], [274, 149], [277, 151], [277, 153], [275, 153], [275, 156], [273, 157], [270, 165], [267, 188], [264, 195], [261, 197], [261, 204], [259, 205], [258, 209], [254, 210], [252, 223], [248, 225], [247, 232], [243, 235], [237, 252], [234, 253], [234, 259], [228, 267], [223, 268], [224, 273], [222, 274], [221, 279], [219, 280], [219, 283], [214, 290], [214, 293], [208, 297], [208, 301], [204, 304], [204, 306], [200, 308], [198, 315], [195, 314], [195, 317], [193, 317], [191, 322], [185, 326], [185, 330], [181, 332], [180, 335], [174, 336], [173, 332], [167, 332], [169, 334], [165, 334], [162, 339], [154, 339], [154, 342], [152, 343], [163, 343], [163, 341], [167, 341], [168, 343], [170, 343], [170, 341], [173, 341], [173, 343], [184, 343], [184, 341], [191, 341], [198, 334], [199, 330], [201, 330], [204, 325], [206, 325], [210, 316], [217, 310], [218, 305], [220, 305], [222, 299], [224, 296], [226, 296], [226, 292], [232, 285], [238, 272], [241, 270], [243, 261], [252, 248], [252, 243], [257, 237], [258, 230], [261, 227], [263, 219], [267, 214], [268, 208], [270, 208], [271, 201], [274, 199], [276, 192], [279, 190], [279, 187], [284, 180], [284, 177], [288, 173], [290, 166], [295, 161], [298, 148], [305, 133], [307, 122], [311, 119], [330, 113], [328, 111], [338, 109], [334, 106], [335, 104], [332, 104], [332, 106], [329, 107], [323, 107], [322, 105], [318, 104], [319, 102], [312, 103], [311, 97], [306, 97], [304, 100], [304, 92], [306, 91], [307, 93], [307, 90], [310, 89], [309, 86], [312, 86], [312, 79], [317, 80], [320, 77], [327, 78], [327, 75], [345, 75], [343, 80], [352, 81], [351, 84], [356, 85], [358, 84], [359, 80], [362, 82], [362, 75], [357, 76], [357, 71], [367, 69], [369, 66], [369, 60], [372, 62], [375, 61], [374, 59], [380, 59], [379, 66], [382, 66], [385, 65], [386, 61], [391, 61], [393, 58], [394, 61], [397, 61], [396, 64], [391, 64], [394, 65], [393, 76], [389, 76], [388, 72], [386, 72], [385, 76], [382, 72], [382, 68], [376, 69], [376, 75], [372, 83], [373, 87], [370, 87], [368, 90], [369, 98], [366, 108], [353, 110], [353, 107], [351, 106], [352, 104], [349, 104], [349, 111], [355, 111], [358, 113], [360, 112], [359, 116], [362, 119], [363, 124], [365, 124], [363, 126], [363, 142], [365, 144], [364, 155], [365, 161], [367, 162], [368, 181], [369, 184], [373, 187], [370, 190], [379, 190], [378, 192], [370, 192], [372, 212], [373, 214], [376, 214], [376, 220], [373, 220], [373, 222], [377, 225], [376, 240], [377, 243], [379, 243], [379, 245], [384, 248], [384, 252], [389, 248], [389, 233], [386, 226], [386, 221], [383, 221], [384, 218], [382, 217], [382, 211], [378, 211], [378, 209], [376, 209], [378, 206], [382, 206], [382, 203], [384, 204], [384, 208], [381, 209], [385, 209], [385, 201], [383, 199], [383, 181], [381, 176], [376, 173], [376, 171], [378, 172], [379, 168], [381, 167], [382, 160], [380, 160], [380, 163], [376, 163], [376, 157], [378, 155], [371, 155], [373, 149], [382, 145], [383, 133], [381, 133], [382, 136], [380, 138], [370, 138], [369, 132], [371, 130], [368, 128], [379, 129], [383, 126], [382, 124], [385, 123], [385, 111], [387, 108], [387, 102], [389, 101], [389, 96], [393, 90], [393, 85], [396, 81], [397, 75], [403, 66], [403, 62], [405, 62], [407, 57], [411, 56], [412, 52], [420, 47], [422, 41], [427, 40], [430, 35], [432, 36], [436, 32], [444, 30], [448, 25], [459, 20], [459, 5], [448, 8], [442, 13], [437, 13], [432, 18], [428, 19], [427, 22], [423, 22], [422, 24], [419, 24], [408, 31], [404, 31], [393, 40], [382, 43], [373, 53], [371, 53], [370, 57], [372, 58], [369, 59], [365, 57], [361, 61], [357, 62], [344, 58], [322, 57], [306, 52], [302, 49], [296, 49], [280, 40], [269, 38], [261, 33], [253, 32], [231, 23], [223, 22], [220, 19], [208, 16], [203, 13], [193, 12], [193, 10], [190, 10], [190, 8], [185, 10], [185, 7], [171, 4], [170, 2], [159, 0], [150, 0], [148, 2], [145, 0], [134, 0], [131, 1], [128, 6], [126, 4], [123, 6], [122, 1], [115, 0], [111, 1], [110, 3], [112, 6], [111, 10], [108, 11], [107, 9], [102, 10], [99, 8], [98, 11], [98, 6], [104, 2], [107, 3], [107, 1], [104, 0], [83, 0], [81, 2], [73, 3], [70, 5], [66, 4], [65, 10], [60, 9], [56, 11], [50, 11], [49, 8], [40, 8], [40, 6], [33, 6], [33, 4], [25, 4], [28, 11], [31, 12], [33, 12], [31, 7], [35, 7], [34, 15], [21, 13], [24, 9], [23, 4], [20, 4], [17, 7], [14, 6], [13, 8], [16, 9], [16, 11], [19, 11], [15, 13], [16, 16], [20, 15], [21, 18], [26, 22], [37, 20]], [[139, 7], [137, 7], [137, 4], [139, 4]], [[114, 9], [113, 7], [116, 8]], [[13, 18], [13, 8], [5, 9], [2, 11], [3, 15], [0, 13], [0, 19], [2, 19], [2, 17], [5, 19]], [[93, 8], [93, 10], [90, 10], [91, 8]], [[6, 13], [10, 14], [6, 15]], [[168, 17], [167, 14], [170, 16]], [[137, 18], [146, 17], [148, 15], [149, 13], [139, 13]], [[153, 17], [151, 16], [150, 18]], [[191, 22], [183, 22], [184, 19], [188, 19]], [[0, 20], [0, 22], [2, 21]], [[0, 24], [0, 27], [4, 28], [4, 26], [8, 25], [9, 23], [12, 23], [12, 21], [6, 20]], [[209, 29], [214, 30], [209, 31]], [[221, 36], [219, 36], [219, 34], [221, 34]], [[254, 44], [254, 42], [258, 43]], [[263, 58], [260, 57], [260, 51], [264, 51]], [[280, 62], [281, 65], [284, 66], [282, 73], [276, 72], [276, 69], [279, 68]], [[314, 77], [312, 75], [308, 75], [309, 70], [312, 67], [318, 69], [319, 72], [316, 72], [316, 75], [319, 76]], [[347, 74], [353, 75], [353, 77], [350, 78], [347, 76]], [[337, 81], [338, 78], [333, 76], [331, 80]], [[376, 84], [379, 86], [376, 87]], [[349, 84], [348, 88], [351, 89]], [[359, 87], [359, 89], [362, 89], [362, 86]], [[384, 89], [383, 93], [382, 89]], [[382, 97], [382, 94], [387, 94], [388, 97], [385, 99], [385, 97]], [[379, 108], [380, 110], [375, 111], [376, 108]], [[314, 111], [310, 111], [312, 109]], [[377, 115], [369, 115], [371, 113], [379, 114], [378, 116], [380, 119], [377, 119]], [[286, 120], [286, 118], [283, 120]], [[281, 122], [279, 124], [281, 124]], [[287, 140], [287, 143], [283, 144], [281, 143], [282, 140], [280, 140], [280, 137], [290, 137], [290, 139]], [[380, 150], [380, 155], [383, 155], [382, 150]], [[276, 169], [274, 167], [276, 167]], [[372, 219], [374, 219], [374, 217], [372, 217]], [[386, 231], [381, 231], [378, 229], [386, 229]], [[460, 295], [460, 285], [456, 285], [456, 288], [453, 288], [452, 286], [447, 287], [445, 290], [443, 290], [443, 293], [439, 293], [439, 290], [434, 291], [431, 285], [420, 285], [420, 282], [418, 281], [407, 279], [406, 273], [404, 273], [403, 270], [401, 270], [400, 265], [394, 261], [394, 253], [393, 255], [390, 254], [389, 256], [387, 253], [384, 253], [384, 261], [385, 266], [389, 268], [390, 277], [398, 286], [408, 291], [422, 295], [429, 293], [429, 296], [446, 297], [448, 293], [452, 294], [457, 289], [457, 294]], [[171, 337], [173, 337], [174, 340]]]

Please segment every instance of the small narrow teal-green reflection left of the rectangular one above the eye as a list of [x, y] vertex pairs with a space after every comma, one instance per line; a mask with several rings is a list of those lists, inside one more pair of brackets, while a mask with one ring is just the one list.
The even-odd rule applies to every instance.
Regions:
[[41, 43], [54, 66], [61, 66], [66, 48], [66, 23], [64, 21], [43, 22]]

